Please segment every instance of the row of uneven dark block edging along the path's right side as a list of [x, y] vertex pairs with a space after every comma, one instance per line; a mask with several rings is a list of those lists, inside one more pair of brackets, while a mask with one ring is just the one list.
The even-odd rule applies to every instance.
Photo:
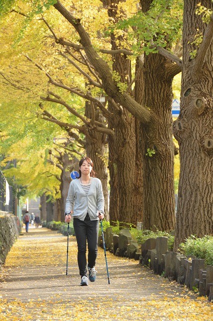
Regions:
[[[193, 255], [186, 257], [168, 251], [166, 236], [147, 239], [140, 247], [132, 240], [128, 229], [122, 229], [115, 235], [112, 228], [108, 227], [103, 233], [105, 247], [109, 252], [139, 260], [141, 265], [149, 267], [155, 274], [184, 284], [190, 290], [198, 290], [200, 296], [213, 300], [213, 266], [205, 265], [203, 259]], [[103, 247], [102, 236], [99, 236], [98, 245]]]

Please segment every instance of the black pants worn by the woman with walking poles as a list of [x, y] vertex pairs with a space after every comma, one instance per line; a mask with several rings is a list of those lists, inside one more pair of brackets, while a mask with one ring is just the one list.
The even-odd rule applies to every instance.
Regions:
[[88, 267], [95, 265], [97, 257], [97, 242], [99, 220], [91, 221], [87, 214], [84, 221], [73, 218], [73, 228], [77, 241], [77, 263], [79, 274], [86, 275], [86, 239], [88, 246]]

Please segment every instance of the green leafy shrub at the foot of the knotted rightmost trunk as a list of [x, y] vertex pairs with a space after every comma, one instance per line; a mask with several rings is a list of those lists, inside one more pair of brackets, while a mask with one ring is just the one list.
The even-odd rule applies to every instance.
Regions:
[[197, 259], [204, 259], [206, 265], [213, 265], [213, 236], [202, 238], [189, 236], [185, 243], [179, 244], [179, 251], [184, 255], [195, 255]]

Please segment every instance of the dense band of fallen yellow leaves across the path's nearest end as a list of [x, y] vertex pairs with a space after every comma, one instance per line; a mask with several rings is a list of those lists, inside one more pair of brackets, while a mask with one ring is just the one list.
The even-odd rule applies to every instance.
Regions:
[[[38, 300], [40, 302], [40, 300]], [[121, 299], [122, 304], [108, 304], [109, 298], [97, 305], [93, 300], [79, 300], [76, 303], [63, 303], [42, 300], [40, 304], [30, 301], [23, 303], [18, 300], [7, 302], [0, 300], [1, 321], [8, 320], [212, 320], [212, 303], [203, 304], [202, 300], [182, 300], [176, 298], [171, 301], [143, 300], [130, 302]], [[111, 302], [111, 301], [110, 301]], [[205, 301], [206, 302], [206, 301]], [[45, 315], [44, 315], [45, 314]], [[18, 315], [18, 317], [16, 316]]]

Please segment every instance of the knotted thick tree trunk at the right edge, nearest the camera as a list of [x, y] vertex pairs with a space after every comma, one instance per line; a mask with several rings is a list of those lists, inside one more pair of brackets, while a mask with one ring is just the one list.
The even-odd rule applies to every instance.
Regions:
[[[191, 234], [203, 237], [213, 233], [213, 23], [211, 20], [207, 29], [202, 15], [195, 13], [199, 2], [184, 2], [180, 114], [173, 126], [180, 152], [174, 250]], [[209, 1], [201, 1], [201, 5], [213, 9]], [[199, 49], [192, 44], [197, 33], [204, 35]], [[194, 59], [190, 57], [193, 50]]]

